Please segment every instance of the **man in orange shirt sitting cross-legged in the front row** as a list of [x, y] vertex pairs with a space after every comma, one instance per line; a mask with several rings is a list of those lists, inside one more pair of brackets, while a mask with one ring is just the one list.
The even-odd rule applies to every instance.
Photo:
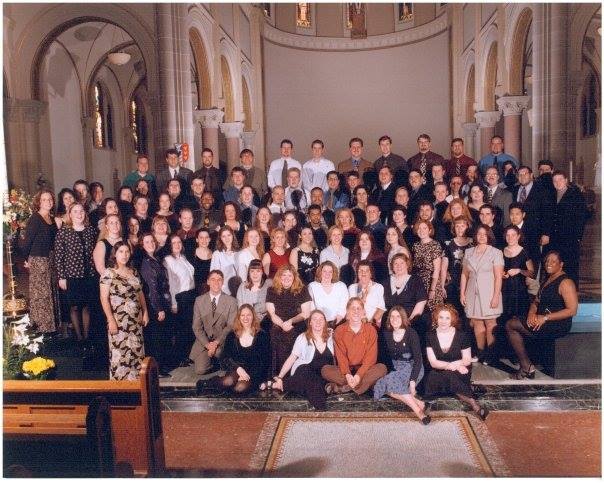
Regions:
[[388, 372], [384, 364], [377, 363], [377, 331], [365, 319], [365, 307], [358, 297], [346, 305], [346, 322], [336, 328], [334, 346], [338, 365], [321, 369], [323, 379], [331, 383], [328, 393], [363, 394]]

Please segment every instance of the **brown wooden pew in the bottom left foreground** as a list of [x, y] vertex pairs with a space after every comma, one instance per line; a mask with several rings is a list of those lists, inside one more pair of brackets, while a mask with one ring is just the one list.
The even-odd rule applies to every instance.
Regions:
[[4, 381], [4, 436], [86, 434], [88, 405], [98, 396], [111, 406], [115, 465], [135, 475], [165, 470], [157, 363], [147, 357], [138, 381]]

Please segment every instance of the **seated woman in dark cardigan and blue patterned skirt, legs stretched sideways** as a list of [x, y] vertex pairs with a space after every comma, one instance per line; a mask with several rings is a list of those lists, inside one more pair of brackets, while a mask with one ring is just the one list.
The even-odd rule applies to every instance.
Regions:
[[390, 310], [383, 337], [388, 355], [386, 365], [391, 372], [375, 383], [373, 399], [377, 401], [388, 394], [409, 406], [423, 424], [429, 424], [430, 416], [424, 414], [425, 403], [417, 399], [415, 391], [424, 377], [419, 336], [400, 305]]

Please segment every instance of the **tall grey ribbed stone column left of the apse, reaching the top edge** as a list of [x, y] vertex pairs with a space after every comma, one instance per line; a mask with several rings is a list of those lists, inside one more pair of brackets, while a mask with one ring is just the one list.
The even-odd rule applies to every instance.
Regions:
[[187, 167], [194, 169], [191, 61], [186, 5], [160, 3], [156, 9], [159, 30], [162, 148], [174, 147], [174, 143], [187, 143]]

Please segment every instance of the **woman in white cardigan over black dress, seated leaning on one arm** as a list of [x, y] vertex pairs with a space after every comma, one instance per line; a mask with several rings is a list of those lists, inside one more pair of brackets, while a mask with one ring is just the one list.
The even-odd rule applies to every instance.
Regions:
[[[308, 329], [300, 334], [294, 343], [291, 355], [287, 358], [274, 381], [268, 381], [263, 388], [291, 391], [303, 395], [310, 405], [325, 411], [327, 393], [321, 369], [333, 364], [333, 337], [327, 326], [325, 314], [313, 310], [310, 314]], [[291, 369], [291, 375], [286, 377]]]

